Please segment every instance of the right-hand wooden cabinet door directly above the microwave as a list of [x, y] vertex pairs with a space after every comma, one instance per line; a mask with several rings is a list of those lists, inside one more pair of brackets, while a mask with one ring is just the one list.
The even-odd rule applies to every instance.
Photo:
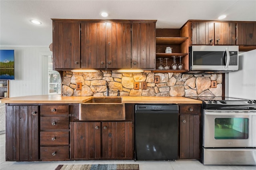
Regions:
[[236, 23], [215, 22], [214, 36], [216, 45], [236, 45]]

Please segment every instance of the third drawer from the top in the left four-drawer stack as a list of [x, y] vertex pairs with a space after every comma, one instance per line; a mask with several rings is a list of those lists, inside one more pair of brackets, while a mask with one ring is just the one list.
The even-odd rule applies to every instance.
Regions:
[[69, 132], [40, 132], [41, 145], [68, 145]]

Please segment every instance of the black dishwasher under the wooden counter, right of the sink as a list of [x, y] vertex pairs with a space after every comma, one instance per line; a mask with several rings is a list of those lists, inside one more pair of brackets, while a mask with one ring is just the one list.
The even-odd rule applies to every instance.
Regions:
[[178, 157], [178, 105], [135, 105], [136, 160]]

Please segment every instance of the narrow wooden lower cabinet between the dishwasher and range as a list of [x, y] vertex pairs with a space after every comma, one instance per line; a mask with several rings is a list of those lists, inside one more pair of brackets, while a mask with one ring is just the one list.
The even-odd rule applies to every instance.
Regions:
[[180, 106], [180, 159], [201, 157], [201, 106]]

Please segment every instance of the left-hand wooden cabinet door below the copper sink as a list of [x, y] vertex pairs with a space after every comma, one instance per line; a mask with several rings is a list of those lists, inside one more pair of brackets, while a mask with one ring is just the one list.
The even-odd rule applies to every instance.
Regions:
[[70, 123], [70, 158], [101, 158], [100, 122]]

